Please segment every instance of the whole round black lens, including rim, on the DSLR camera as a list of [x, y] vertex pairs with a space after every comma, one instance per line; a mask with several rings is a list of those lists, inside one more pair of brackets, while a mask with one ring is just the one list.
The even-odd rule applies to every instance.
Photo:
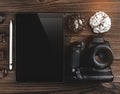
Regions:
[[108, 67], [113, 62], [113, 54], [110, 47], [105, 45], [97, 46], [93, 51], [93, 65], [96, 68]]

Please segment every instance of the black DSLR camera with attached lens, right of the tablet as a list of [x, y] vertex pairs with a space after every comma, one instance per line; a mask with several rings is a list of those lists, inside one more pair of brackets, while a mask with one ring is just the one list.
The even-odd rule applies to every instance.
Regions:
[[72, 81], [102, 81], [113, 80], [110, 65], [113, 53], [108, 41], [102, 36], [94, 36], [86, 41], [72, 43], [69, 50]]

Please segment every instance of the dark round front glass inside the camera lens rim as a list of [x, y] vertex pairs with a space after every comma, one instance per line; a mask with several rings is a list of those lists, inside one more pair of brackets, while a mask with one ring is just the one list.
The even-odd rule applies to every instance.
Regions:
[[99, 49], [96, 52], [95, 59], [99, 63], [109, 63], [111, 60], [111, 54], [106, 49]]

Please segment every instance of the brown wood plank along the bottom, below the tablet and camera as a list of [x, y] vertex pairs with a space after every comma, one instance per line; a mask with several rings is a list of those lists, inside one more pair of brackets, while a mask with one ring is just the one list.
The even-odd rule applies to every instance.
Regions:
[[[10, 72], [9, 76], [14, 72]], [[9, 79], [7, 77], [6, 79]], [[115, 92], [119, 94], [120, 83], [17, 83], [5, 82], [0, 84], [1, 94], [91, 94], [93, 92]], [[74, 93], [73, 93], [74, 92]], [[83, 92], [83, 93], [82, 93]], [[91, 93], [90, 93], [91, 92]], [[99, 94], [99, 93], [98, 93]], [[100, 93], [102, 94], [102, 93]]]

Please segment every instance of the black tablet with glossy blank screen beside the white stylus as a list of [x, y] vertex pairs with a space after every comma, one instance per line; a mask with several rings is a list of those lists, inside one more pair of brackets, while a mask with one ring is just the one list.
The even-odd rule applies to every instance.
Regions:
[[16, 14], [16, 80], [63, 80], [63, 30], [60, 13]]

